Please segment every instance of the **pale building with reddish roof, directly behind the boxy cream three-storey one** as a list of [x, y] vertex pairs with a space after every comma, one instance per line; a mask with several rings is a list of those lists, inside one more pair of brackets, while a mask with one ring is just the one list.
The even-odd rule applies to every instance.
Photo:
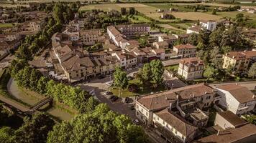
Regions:
[[173, 51], [180, 58], [196, 57], [196, 46], [191, 44], [180, 44], [173, 46]]

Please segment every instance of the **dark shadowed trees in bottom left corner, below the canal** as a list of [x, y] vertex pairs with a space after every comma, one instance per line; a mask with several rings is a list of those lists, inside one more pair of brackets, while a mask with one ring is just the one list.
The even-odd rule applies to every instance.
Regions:
[[[3, 115], [1, 112], [5, 111], [0, 106], [0, 121]], [[17, 122], [17, 120], [13, 122]], [[54, 124], [55, 122], [43, 113], [34, 114], [32, 117], [24, 117], [24, 123], [17, 129], [8, 127], [8, 124], [3, 124], [0, 127], [0, 143], [44, 143], [47, 141], [47, 134], [52, 130]]]

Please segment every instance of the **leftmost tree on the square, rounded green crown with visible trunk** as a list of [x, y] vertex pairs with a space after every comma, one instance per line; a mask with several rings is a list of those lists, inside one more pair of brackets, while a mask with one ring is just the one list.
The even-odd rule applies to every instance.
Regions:
[[121, 67], [116, 67], [114, 71], [114, 85], [119, 87], [119, 96], [120, 88], [124, 89], [128, 85], [127, 73], [122, 71]]

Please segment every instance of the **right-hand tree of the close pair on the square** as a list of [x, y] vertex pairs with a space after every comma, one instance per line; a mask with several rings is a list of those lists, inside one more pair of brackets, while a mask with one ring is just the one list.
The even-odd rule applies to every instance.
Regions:
[[155, 84], [155, 87], [157, 87], [163, 82], [164, 67], [162, 62], [159, 59], [151, 61], [150, 66], [151, 66], [151, 73], [152, 73], [151, 83]]

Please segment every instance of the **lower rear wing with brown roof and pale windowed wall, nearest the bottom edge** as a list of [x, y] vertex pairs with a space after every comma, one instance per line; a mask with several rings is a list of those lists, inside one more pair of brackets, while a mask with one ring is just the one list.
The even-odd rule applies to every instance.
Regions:
[[175, 112], [169, 111], [169, 109], [155, 112], [152, 121], [155, 127], [161, 128], [161, 135], [167, 139], [171, 139], [168, 136], [172, 134], [173, 137], [178, 138], [181, 142], [191, 142], [198, 132], [197, 127], [179, 117]]

